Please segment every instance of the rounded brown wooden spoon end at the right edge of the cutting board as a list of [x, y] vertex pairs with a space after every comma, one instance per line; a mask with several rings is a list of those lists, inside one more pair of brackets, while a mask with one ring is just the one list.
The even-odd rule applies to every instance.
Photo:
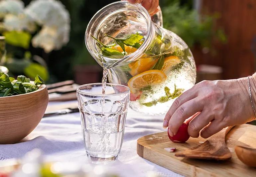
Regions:
[[236, 146], [235, 152], [237, 157], [246, 165], [256, 167], [256, 149]]

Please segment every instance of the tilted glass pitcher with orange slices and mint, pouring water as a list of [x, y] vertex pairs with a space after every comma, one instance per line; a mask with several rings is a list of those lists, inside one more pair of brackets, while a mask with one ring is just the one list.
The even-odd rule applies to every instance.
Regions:
[[[162, 24], [161, 17], [157, 21]], [[127, 36], [131, 35], [142, 39], [136, 44], [126, 42], [125, 50], [113, 40], [130, 39]], [[106, 56], [92, 36], [122, 53]], [[135, 111], [165, 114], [195, 83], [195, 62], [188, 45], [153, 23], [140, 4], [119, 1], [99, 10], [87, 26], [85, 44], [93, 58], [109, 69], [110, 83], [130, 87], [130, 107]]]

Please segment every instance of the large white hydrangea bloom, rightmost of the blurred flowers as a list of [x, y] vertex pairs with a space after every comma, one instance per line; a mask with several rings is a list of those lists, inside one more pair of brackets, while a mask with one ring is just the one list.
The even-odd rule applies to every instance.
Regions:
[[50, 52], [53, 49], [60, 49], [68, 43], [70, 17], [60, 1], [32, 1], [26, 7], [25, 14], [28, 14], [36, 23], [43, 26], [39, 34], [32, 39], [34, 47], [42, 47], [46, 52]]

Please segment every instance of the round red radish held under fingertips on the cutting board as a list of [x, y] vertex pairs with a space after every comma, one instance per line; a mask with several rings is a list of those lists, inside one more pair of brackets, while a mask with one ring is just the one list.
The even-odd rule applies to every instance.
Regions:
[[188, 124], [183, 123], [181, 125], [181, 127], [179, 128], [178, 132], [176, 133], [176, 135], [174, 135], [174, 136], [170, 136], [169, 128], [168, 128], [167, 133], [168, 133], [168, 136], [171, 139], [171, 141], [173, 141], [173, 142], [186, 142], [190, 137], [190, 135], [188, 133], [188, 127], [189, 127]]

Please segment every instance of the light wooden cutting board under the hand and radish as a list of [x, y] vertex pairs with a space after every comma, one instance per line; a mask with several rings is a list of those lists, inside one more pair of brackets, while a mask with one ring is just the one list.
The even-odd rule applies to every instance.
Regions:
[[170, 141], [167, 132], [143, 136], [137, 140], [137, 153], [164, 168], [184, 176], [256, 176], [256, 168], [247, 167], [236, 156], [236, 145], [256, 148], [256, 126], [244, 124], [236, 126], [226, 136], [226, 144], [232, 153], [227, 161], [196, 160], [176, 157], [175, 152], [167, 152], [165, 147], [176, 147], [176, 152], [194, 147], [205, 139], [192, 138], [186, 143]]

